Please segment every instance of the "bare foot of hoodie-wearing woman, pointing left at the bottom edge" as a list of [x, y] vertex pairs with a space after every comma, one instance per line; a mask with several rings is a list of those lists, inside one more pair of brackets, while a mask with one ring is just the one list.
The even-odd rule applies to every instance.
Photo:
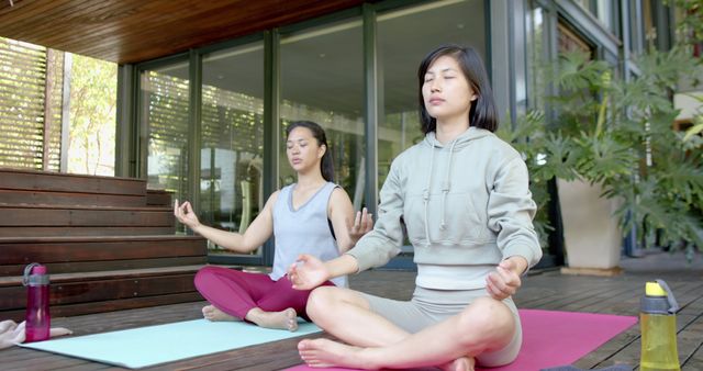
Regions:
[[361, 350], [328, 339], [304, 339], [298, 344], [300, 358], [312, 368], [377, 369], [359, 357]]

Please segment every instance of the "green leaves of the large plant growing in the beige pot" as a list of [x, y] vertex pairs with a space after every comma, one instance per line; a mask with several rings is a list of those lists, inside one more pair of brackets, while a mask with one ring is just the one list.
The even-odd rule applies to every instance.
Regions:
[[[641, 75], [625, 81], [603, 61], [565, 54], [545, 74], [558, 91], [545, 100], [554, 114], [529, 112], [500, 135], [525, 155], [533, 189], [554, 177], [601, 183], [603, 196], [624, 201], [624, 232], [637, 226], [659, 231], [666, 245], [703, 247], [703, 140], [673, 130], [670, 99], [681, 78], [703, 76], [701, 66], [678, 48], [637, 65]], [[702, 131], [698, 120], [692, 131]]]

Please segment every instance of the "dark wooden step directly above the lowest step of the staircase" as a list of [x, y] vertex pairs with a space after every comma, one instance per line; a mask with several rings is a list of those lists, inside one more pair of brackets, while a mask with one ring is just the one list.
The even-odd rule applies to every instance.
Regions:
[[70, 273], [202, 265], [207, 255], [199, 236], [0, 237], [0, 277], [31, 262]]

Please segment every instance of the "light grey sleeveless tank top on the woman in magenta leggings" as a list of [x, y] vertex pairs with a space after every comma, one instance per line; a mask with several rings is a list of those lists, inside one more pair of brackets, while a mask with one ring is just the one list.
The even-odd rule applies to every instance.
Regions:
[[[338, 186], [327, 182], [322, 186], [298, 210], [293, 209], [293, 188], [295, 183], [283, 187], [274, 205], [274, 236], [276, 249], [274, 255], [274, 270], [269, 274], [277, 281], [286, 276], [288, 267], [301, 254], [309, 254], [322, 261], [339, 256], [337, 241], [332, 236], [327, 224], [327, 204], [332, 191]], [[347, 277], [332, 280], [337, 286], [347, 286]]]

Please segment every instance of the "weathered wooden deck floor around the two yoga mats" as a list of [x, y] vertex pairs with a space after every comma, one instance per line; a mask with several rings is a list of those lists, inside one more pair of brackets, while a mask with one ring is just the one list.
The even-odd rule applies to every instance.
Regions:
[[[614, 278], [562, 276], [557, 270], [534, 272], [524, 280], [515, 301], [520, 307], [637, 315], [647, 280], [665, 279], [682, 307], [678, 314], [679, 357], [684, 371], [703, 370], [703, 263], [695, 258], [687, 266], [666, 254], [623, 261], [625, 273]], [[413, 272], [369, 271], [352, 278], [352, 286], [395, 299], [410, 297]], [[152, 308], [54, 318], [54, 326], [68, 327], [75, 335], [171, 323], [200, 317], [203, 302]], [[297, 339], [226, 351], [168, 363], [149, 370], [278, 370], [300, 363]], [[615, 363], [636, 367], [639, 362], [639, 328], [632, 327], [576, 362], [583, 369]], [[2, 370], [121, 370], [102, 363], [11, 348], [0, 350]]]

